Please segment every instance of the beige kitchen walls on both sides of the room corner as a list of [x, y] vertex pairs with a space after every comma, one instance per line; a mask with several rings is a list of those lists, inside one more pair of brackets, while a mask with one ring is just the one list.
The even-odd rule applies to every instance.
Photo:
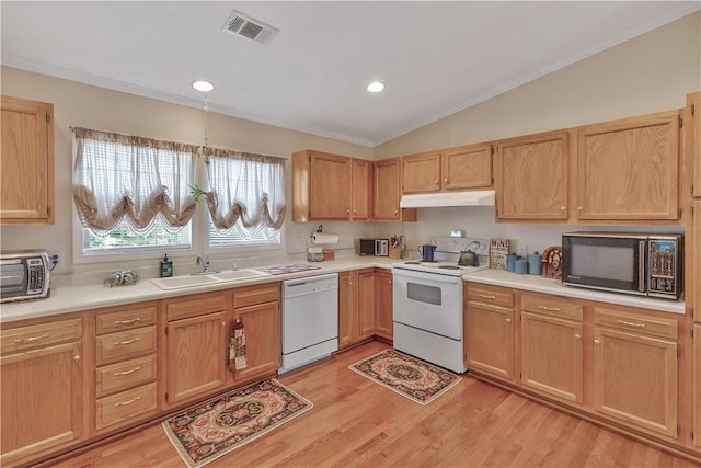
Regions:
[[[681, 107], [687, 93], [701, 90], [700, 31], [701, 14], [694, 13], [372, 149], [216, 114], [209, 116], [209, 144], [285, 158], [296, 150], [313, 148], [384, 159]], [[149, 274], [156, 275], [158, 255], [128, 264], [66, 262], [71, 258], [73, 231], [69, 126], [200, 144], [203, 110], [8, 67], [2, 67], [1, 80], [2, 94], [55, 105], [57, 205], [55, 226], [0, 228], [2, 249], [47, 248], [61, 252], [65, 261], [58, 271], [65, 273], [150, 265]], [[287, 171], [286, 187], [289, 199], [290, 172]], [[300, 252], [297, 239], [308, 238], [315, 226], [286, 222], [286, 253]], [[493, 208], [420, 209], [420, 221], [403, 226], [324, 222], [324, 230], [341, 235], [338, 248], [353, 247], [361, 236], [389, 236], [402, 229], [412, 247], [423, 243], [426, 237], [462, 229], [471, 236], [504, 236], [542, 249], [559, 243], [560, 233], [567, 227], [495, 225]], [[189, 266], [192, 259], [176, 259], [176, 270], [177, 262]]]

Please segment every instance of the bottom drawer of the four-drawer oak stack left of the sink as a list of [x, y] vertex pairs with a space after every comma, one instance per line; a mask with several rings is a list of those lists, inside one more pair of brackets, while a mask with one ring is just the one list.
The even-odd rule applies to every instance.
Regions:
[[157, 408], [156, 383], [102, 398], [95, 404], [95, 429], [117, 424]]

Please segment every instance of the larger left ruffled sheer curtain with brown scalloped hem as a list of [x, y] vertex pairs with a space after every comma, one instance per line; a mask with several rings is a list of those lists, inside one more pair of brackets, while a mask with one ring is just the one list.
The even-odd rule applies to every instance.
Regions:
[[127, 219], [135, 231], [156, 217], [177, 230], [189, 222], [197, 147], [152, 138], [72, 128], [72, 192], [83, 227], [111, 231]]

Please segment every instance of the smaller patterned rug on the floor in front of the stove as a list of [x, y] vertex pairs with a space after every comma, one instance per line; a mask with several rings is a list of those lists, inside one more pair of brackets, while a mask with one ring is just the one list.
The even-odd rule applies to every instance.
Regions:
[[456, 374], [394, 350], [381, 351], [348, 367], [421, 404], [430, 403], [460, 381]]

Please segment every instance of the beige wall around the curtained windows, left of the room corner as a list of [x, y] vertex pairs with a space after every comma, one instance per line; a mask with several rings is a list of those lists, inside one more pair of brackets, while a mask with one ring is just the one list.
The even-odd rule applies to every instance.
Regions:
[[[72, 258], [72, 198], [70, 179], [72, 171], [70, 126], [96, 128], [131, 135], [142, 135], [164, 140], [189, 144], [204, 142], [204, 110], [170, 104], [103, 88], [57, 79], [24, 70], [2, 67], [2, 94], [50, 102], [54, 104], [55, 128], [55, 196], [56, 224], [54, 226], [2, 226], [2, 250], [46, 248], [59, 252], [61, 262], [57, 273], [83, 271], [114, 271], [142, 265], [152, 266], [145, 275], [156, 275], [161, 255], [150, 255], [143, 261], [124, 264], [74, 265]], [[300, 149], [313, 148], [364, 159], [372, 159], [371, 148], [317, 137], [300, 132], [263, 125], [251, 121], [210, 113], [208, 117], [208, 144], [220, 148], [266, 153], [290, 158]], [[291, 202], [291, 170], [286, 169], [286, 193]], [[203, 209], [199, 209], [204, 212]], [[291, 209], [289, 212], [291, 219]], [[313, 224], [313, 228], [317, 228]], [[354, 239], [371, 233], [372, 226], [364, 224], [324, 224], [324, 230], [341, 235], [340, 248], [352, 248]], [[284, 238], [287, 253], [301, 252], [298, 238], [309, 238], [312, 225], [285, 222]], [[174, 253], [176, 271], [192, 267], [194, 258]], [[285, 261], [279, 259], [278, 261]], [[179, 266], [182, 266], [179, 269]]]

